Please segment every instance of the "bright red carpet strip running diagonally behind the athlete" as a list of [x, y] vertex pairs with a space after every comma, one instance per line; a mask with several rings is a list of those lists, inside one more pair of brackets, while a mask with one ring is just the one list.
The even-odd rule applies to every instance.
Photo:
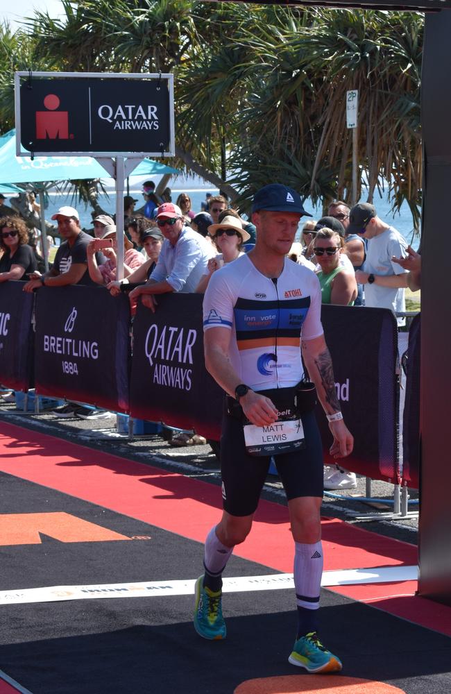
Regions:
[[[219, 486], [8, 423], [0, 423], [0, 470], [200, 542], [221, 513]], [[323, 542], [325, 570], [417, 562], [413, 545], [337, 519], [323, 521]], [[253, 531], [235, 554], [291, 572], [293, 547], [287, 508], [262, 500]], [[451, 608], [413, 597], [415, 582], [333, 590], [451, 635]]]

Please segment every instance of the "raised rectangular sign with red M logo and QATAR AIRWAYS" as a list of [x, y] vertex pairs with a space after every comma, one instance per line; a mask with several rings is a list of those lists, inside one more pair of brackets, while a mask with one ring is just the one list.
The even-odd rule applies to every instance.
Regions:
[[16, 73], [17, 155], [171, 156], [172, 75]]

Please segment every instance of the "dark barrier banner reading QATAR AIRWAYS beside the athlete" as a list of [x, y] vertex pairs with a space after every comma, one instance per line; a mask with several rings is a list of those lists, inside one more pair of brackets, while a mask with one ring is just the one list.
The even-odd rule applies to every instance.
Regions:
[[201, 294], [162, 295], [155, 314], [139, 304], [130, 414], [219, 441], [223, 391], [205, 369], [202, 301]]

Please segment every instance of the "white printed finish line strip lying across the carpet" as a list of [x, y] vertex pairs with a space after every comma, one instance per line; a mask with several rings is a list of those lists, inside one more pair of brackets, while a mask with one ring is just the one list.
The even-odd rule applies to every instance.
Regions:
[[[325, 571], [321, 586], [371, 583], [397, 583], [418, 578], [416, 566], [383, 566], [371, 569]], [[151, 598], [155, 595], [194, 595], [194, 580], [115, 583], [93, 586], [51, 586], [17, 591], [0, 591], [0, 605], [26, 602], [61, 602], [90, 598]], [[241, 576], [223, 579], [223, 593], [274, 591], [294, 588], [292, 573], [267, 576]]]

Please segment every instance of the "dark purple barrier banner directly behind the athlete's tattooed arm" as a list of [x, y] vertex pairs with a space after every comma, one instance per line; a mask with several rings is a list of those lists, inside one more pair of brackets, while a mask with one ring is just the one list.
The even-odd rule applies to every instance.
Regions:
[[[335, 389], [354, 437], [351, 455], [339, 460], [346, 470], [373, 480], [398, 482], [399, 378], [398, 329], [389, 309], [323, 305], [325, 341], [332, 355]], [[316, 419], [326, 464], [335, 464], [323, 408]]]

